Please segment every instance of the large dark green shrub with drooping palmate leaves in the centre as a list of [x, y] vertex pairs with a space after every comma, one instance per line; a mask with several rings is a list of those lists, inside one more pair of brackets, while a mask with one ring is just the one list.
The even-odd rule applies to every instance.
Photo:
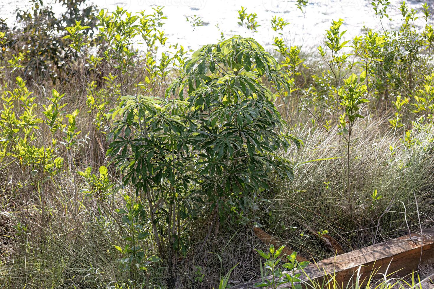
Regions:
[[277, 150], [301, 143], [285, 133], [275, 96], [261, 77], [286, 89], [289, 83], [253, 39], [235, 36], [205, 45], [184, 67], [166, 93], [179, 98], [122, 97], [112, 111], [121, 119], [112, 127], [108, 151], [124, 172], [124, 184], [148, 199], [155, 232], [166, 223], [181, 250], [175, 226], [180, 219], [209, 214], [217, 231], [219, 221], [247, 222], [246, 214], [275, 174], [293, 178]]

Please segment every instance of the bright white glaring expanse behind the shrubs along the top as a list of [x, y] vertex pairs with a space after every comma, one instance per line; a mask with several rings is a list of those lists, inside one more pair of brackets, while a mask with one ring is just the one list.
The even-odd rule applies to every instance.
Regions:
[[[389, 14], [393, 19], [401, 19], [398, 7], [400, 0], [390, 0]], [[46, 1], [49, 3], [49, 1]], [[291, 22], [284, 30], [284, 38], [290, 45], [303, 45], [304, 49], [316, 48], [321, 44], [324, 30], [329, 28], [332, 19], [344, 19], [343, 29], [347, 29], [345, 39], [357, 35], [363, 26], [379, 28], [378, 19], [371, 8], [371, 0], [309, 0], [302, 13], [296, 7], [296, 0], [94, 0], [99, 7], [113, 10], [122, 6], [133, 12], [141, 10], [152, 11], [152, 6], [164, 6], [164, 13], [168, 16], [165, 32], [170, 36], [170, 43], [180, 43], [184, 47], [197, 49], [201, 45], [216, 42], [220, 31], [226, 37], [235, 34], [254, 37], [263, 45], [271, 49], [276, 32], [271, 29], [270, 19], [277, 15]], [[414, 9], [420, 9], [424, 1], [406, 1]], [[434, 0], [428, 0], [434, 10]], [[8, 22], [15, 20], [14, 11], [17, 8], [26, 9], [27, 0], [0, 0], [0, 17], [8, 18]], [[244, 6], [247, 12], [257, 13], [257, 21], [261, 25], [259, 32], [253, 33], [239, 26], [237, 10]], [[60, 7], [54, 6], [60, 11]], [[204, 26], [195, 29], [187, 23], [185, 16], [201, 16]], [[421, 20], [421, 19], [420, 19]], [[420, 21], [418, 24], [422, 25]], [[396, 22], [385, 25], [396, 26]], [[282, 36], [279, 36], [282, 37]]]

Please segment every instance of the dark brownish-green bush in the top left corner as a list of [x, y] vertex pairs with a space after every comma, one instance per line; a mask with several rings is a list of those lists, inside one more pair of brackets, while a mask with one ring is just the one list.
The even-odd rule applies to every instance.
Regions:
[[[56, 2], [64, 10], [60, 16], [43, 0], [31, 0], [29, 10], [17, 10], [16, 18], [20, 26], [8, 31], [9, 44], [20, 47], [20, 52], [26, 55], [24, 72], [28, 75], [54, 78], [59, 76], [56, 73], [70, 72], [68, 62], [75, 57], [76, 52], [69, 49], [67, 42], [59, 35], [64, 33], [66, 26], [74, 25], [76, 20], [95, 27], [95, 6], [87, 5], [86, 0]], [[92, 29], [87, 32], [88, 36], [92, 35]]]

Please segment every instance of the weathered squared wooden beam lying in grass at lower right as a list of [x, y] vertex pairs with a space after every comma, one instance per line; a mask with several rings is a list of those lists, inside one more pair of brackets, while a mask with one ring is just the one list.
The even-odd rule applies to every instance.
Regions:
[[[422, 243], [423, 242], [423, 243]], [[422, 234], [412, 233], [397, 239], [388, 240], [380, 244], [365, 247], [349, 253], [338, 255], [318, 263], [312, 263], [304, 270], [300, 279], [310, 280], [321, 284], [327, 281], [330, 275], [335, 275], [336, 283], [345, 288], [347, 284], [355, 281], [356, 271], [360, 266], [362, 280], [368, 279], [372, 272], [376, 271], [374, 278], [381, 278], [381, 273], [394, 273], [399, 277], [405, 277], [418, 270], [419, 262], [424, 262], [434, 257], [434, 228], [425, 230]], [[299, 271], [297, 273], [300, 273]], [[267, 277], [271, 279], [270, 277]], [[250, 289], [261, 280], [253, 280], [239, 283], [231, 289]], [[283, 284], [276, 288], [289, 288], [289, 284]], [[362, 287], [362, 286], [361, 286]]]

